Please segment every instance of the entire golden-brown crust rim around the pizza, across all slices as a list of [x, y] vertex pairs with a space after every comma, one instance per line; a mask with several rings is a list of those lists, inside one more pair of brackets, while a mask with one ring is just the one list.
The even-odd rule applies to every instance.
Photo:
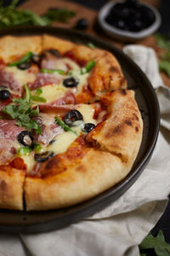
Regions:
[[[139, 152], [142, 119], [133, 91], [120, 90], [127, 87], [127, 82], [115, 56], [103, 49], [90, 49], [48, 35], [0, 39], [0, 58], [5, 63], [28, 51], [40, 54], [44, 49], [59, 49], [61, 55], [72, 51], [77, 60], [95, 61], [88, 78], [91, 94], [85, 96], [85, 101], [91, 96], [101, 100], [109, 115], [88, 134], [90, 146], [80, 151], [82, 157], [68, 161], [67, 166], [62, 166], [63, 172], [57, 166], [53, 170], [46, 166], [42, 171], [47, 175], [26, 177], [24, 171], [12, 167], [0, 170], [1, 208], [23, 210], [23, 198], [27, 211], [69, 207], [87, 201], [126, 177]], [[77, 98], [80, 102], [83, 99], [81, 94]]]

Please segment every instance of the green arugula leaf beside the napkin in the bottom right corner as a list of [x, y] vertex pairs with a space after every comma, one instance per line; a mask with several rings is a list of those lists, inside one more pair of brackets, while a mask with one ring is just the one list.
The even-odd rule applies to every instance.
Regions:
[[165, 241], [162, 230], [159, 230], [156, 237], [149, 234], [139, 245], [140, 250], [154, 249], [157, 256], [169, 256], [170, 244]]

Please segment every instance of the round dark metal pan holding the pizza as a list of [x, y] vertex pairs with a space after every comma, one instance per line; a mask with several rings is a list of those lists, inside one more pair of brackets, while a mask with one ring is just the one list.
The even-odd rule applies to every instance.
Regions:
[[8, 233], [34, 233], [49, 230], [58, 230], [68, 224], [80, 221], [90, 215], [109, 206], [116, 201], [124, 192], [129, 189], [136, 179], [143, 172], [148, 164], [159, 132], [160, 112], [155, 90], [144, 73], [140, 70], [127, 55], [120, 49], [116, 49], [112, 44], [106, 43], [99, 38], [94, 38], [82, 32], [56, 27], [18, 27], [9, 28], [0, 32], [0, 37], [4, 35], [32, 35], [48, 33], [60, 38], [88, 44], [92, 42], [96, 47], [111, 51], [121, 63], [122, 71], [127, 79], [128, 88], [135, 90], [136, 101], [139, 104], [144, 120], [144, 135], [139, 154], [132, 171], [121, 183], [106, 190], [104, 193], [91, 200], [82, 202], [73, 207], [45, 212], [20, 212], [0, 210], [0, 231]]

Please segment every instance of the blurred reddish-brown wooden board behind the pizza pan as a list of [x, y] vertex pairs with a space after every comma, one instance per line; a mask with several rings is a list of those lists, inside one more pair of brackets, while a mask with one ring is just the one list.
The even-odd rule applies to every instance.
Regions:
[[[155, 7], [159, 7], [159, 4], [161, 3], [160, 0], [141, 0], [143, 3], [150, 3], [154, 5]], [[105, 35], [105, 32], [103, 32], [101, 29], [96, 29], [96, 20], [98, 16], [98, 12], [94, 9], [89, 9], [85, 6], [82, 6], [78, 3], [73, 3], [71, 1], [65, 1], [65, 0], [29, 0], [23, 3], [20, 6], [20, 9], [30, 9], [37, 13], [38, 15], [43, 15], [49, 8], [67, 8], [75, 11], [76, 16], [71, 18], [69, 22], [67, 23], [61, 23], [61, 22], [54, 22], [53, 26], [60, 26], [60, 27], [66, 27], [66, 28], [74, 28], [77, 20], [80, 18], [86, 18], [88, 20], [89, 26], [85, 32], [88, 34], [94, 35], [98, 38], [102, 38], [105, 41], [109, 41], [111, 44], [114, 44], [116, 47], [122, 49], [122, 47], [128, 43], [123, 43], [121, 41], [116, 41], [112, 38], [109, 38]], [[156, 45], [156, 39], [153, 35], [144, 38], [142, 40], [139, 40], [136, 44], [142, 44], [145, 46], [149, 46], [156, 51], [157, 58], [160, 58], [160, 55], [162, 53], [162, 49], [160, 49]], [[161, 78], [163, 79], [164, 84], [166, 84], [170, 88], [170, 79], [167, 77], [165, 73], [161, 73]]]

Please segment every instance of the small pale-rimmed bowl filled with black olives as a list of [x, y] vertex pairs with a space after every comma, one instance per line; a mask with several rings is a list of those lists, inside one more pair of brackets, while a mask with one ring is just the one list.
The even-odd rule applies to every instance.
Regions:
[[129, 42], [149, 36], [161, 25], [161, 15], [156, 8], [135, 0], [106, 3], [98, 18], [108, 35]]

